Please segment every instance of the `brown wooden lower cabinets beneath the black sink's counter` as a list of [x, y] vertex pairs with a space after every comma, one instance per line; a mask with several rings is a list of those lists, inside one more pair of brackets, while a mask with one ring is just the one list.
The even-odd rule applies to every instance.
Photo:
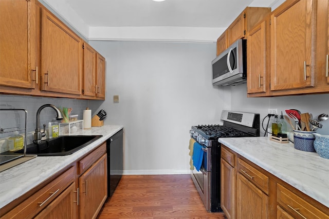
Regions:
[[106, 143], [66, 169], [1, 208], [0, 218], [96, 218], [107, 198]]

